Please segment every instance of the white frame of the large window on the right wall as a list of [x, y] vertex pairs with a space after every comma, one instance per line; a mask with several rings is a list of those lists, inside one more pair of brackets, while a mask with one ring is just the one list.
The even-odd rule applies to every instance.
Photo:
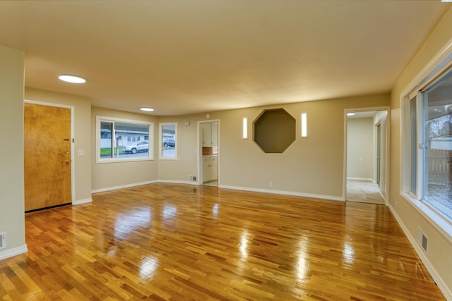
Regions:
[[[452, 39], [439, 51], [400, 94], [400, 195], [408, 200], [444, 238], [452, 242], [452, 223], [436, 209], [422, 201], [423, 158], [419, 143], [423, 142], [422, 90], [427, 89], [442, 76], [452, 71]], [[410, 99], [417, 97], [417, 193], [410, 192], [411, 179], [411, 131]], [[397, 209], [397, 204], [396, 204]]]

